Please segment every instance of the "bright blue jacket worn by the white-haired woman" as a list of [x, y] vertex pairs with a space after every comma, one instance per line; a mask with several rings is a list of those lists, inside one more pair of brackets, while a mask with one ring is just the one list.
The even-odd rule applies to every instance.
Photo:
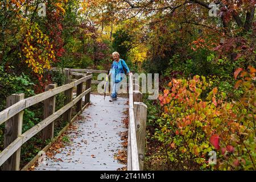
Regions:
[[[122, 64], [124, 68], [122, 67]], [[121, 73], [125, 74], [125, 71], [123, 69], [126, 69], [127, 73], [130, 72], [130, 69], [128, 68], [124, 60], [119, 59], [118, 63], [117, 61], [113, 61], [110, 73], [112, 74], [112, 76], [115, 76], [115, 82], [122, 81], [123, 78]]]

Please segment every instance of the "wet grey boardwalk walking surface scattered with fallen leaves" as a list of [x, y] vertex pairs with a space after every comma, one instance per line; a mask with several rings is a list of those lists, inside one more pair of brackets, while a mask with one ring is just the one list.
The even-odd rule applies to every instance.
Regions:
[[125, 167], [114, 159], [122, 149], [119, 133], [127, 131], [122, 123], [123, 111], [127, 109], [127, 98], [118, 98], [109, 102], [110, 97], [90, 96], [92, 105], [82, 112], [82, 119], [73, 122], [76, 130], [68, 130], [67, 138], [71, 141], [55, 154], [55, 161], [47, 156], [46, 164], [40, 164], [35, 170], [117, 170]]

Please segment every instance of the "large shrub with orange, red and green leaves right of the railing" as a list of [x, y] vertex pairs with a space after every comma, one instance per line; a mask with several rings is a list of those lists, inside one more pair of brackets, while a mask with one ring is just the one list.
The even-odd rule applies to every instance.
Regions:
[[[234, 73], [237, 78], [237, 69]], [[241, 73], [236, 88], [239, 101], [225, 101], [204, 76], [192, 80], [172, 79], [159, 95], [163, 106], [155, 137], [167, 149], [168, 159], [179, 169], [255, 170], [255, 69]], [[206, 96], [206, 97], [202, 97]], [[217, 152], [217, 165], [208, 163], [209, 152]]]

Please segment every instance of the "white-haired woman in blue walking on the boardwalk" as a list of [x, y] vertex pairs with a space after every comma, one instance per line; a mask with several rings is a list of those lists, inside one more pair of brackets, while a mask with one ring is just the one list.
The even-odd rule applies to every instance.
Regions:
[[120, 55], [118, 52], [113, 52], [112, 56], [114, 61], [110, 69], [109, 76], [112, 75], [113, 87], [112, 87], [111, 100], [109, 100], [110, 102], [117, 100], [117, 92], [121, 86], [121, 82], [125, 74], [124, 69], [126, 69], [126, 73], [129, 73], [129, 75], [132, 74], [127, 64], [125, 63], [125, 61], [120, 59]]

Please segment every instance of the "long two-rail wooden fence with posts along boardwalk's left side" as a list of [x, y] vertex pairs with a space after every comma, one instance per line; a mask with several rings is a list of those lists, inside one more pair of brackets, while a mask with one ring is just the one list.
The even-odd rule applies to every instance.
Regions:
[[[7, 97], [7, 108], [0, 112], [0, 125], [5, 123], [5, 149], [0, 153], [0, 166], [3, 170], [19, 170], [20, 147], [27, 140], [43, 130], [43, 141], [53, 138], [54, 121], [63, 114], [64, 121], [72, 122], [78, 114], [88, 106], [90, 101], [90, 87], [92, 75], [80, 76], [79, 80], [70, 82], [56, 88], [55, 84], [48, 85], [46, 92], [29, 98], [24, 94], [13, 94]], [[82, 85], [86, 82], [83, 92]], [[73, 89], [76, 87], [76, 98], [73, 99]], [[64, 92], [64, 106], [55, 111], [55, 96]], [[82, 97], [85, 96], [85, 104], [82, 106]], [[27, 107], [44, 101], [44, 119], [31, 129], [22, 133], [23, 110]], [[72, 107], [76, 105], [77, 115], [72, 118]]]

